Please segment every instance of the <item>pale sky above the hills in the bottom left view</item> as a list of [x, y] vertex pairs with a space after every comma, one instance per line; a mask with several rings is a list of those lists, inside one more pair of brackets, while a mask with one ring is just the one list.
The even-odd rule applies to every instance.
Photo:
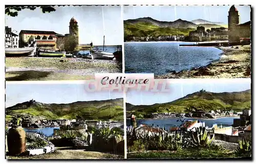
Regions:
[[6, 107], [31, 99], [42, 103], [123, 98], [122, 92], [87, 92], [85, 84], [6, 84]]

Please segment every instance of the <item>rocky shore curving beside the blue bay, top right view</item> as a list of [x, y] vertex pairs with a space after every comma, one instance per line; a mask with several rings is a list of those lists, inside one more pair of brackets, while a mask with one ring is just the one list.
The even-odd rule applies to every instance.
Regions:
[[217, 47], [223, 50], [218, 61], [188, 71], [155, 75], [155, 78], [248, 78], [251, 73], [251, 47], [238, 47]]

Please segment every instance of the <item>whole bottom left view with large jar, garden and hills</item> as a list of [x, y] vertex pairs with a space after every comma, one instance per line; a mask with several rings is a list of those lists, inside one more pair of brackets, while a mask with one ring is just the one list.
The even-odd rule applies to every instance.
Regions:
[[123, 159], [123, 93], [6, 83], [6, 159]]

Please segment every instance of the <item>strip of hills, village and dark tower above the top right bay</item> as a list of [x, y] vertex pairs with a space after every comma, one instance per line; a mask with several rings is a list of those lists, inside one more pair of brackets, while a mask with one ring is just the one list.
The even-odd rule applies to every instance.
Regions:
[[[231, 6], [228, 24], [203, 19], [159, 21], [151, 17], [124, 20], [124, 41], [239, 41], [250, 38], [251, 21], [240, 24], [238, 10]], [[228, 26], [228, 28], [226, 28]]]

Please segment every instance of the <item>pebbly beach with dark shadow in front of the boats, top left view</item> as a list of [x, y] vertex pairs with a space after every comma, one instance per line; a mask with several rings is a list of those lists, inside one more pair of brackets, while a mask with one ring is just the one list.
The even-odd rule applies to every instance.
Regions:
[[120, 73], [122, 63], [81, 58], [6, 58], [6, 80], [84, 80], [95, 73]]

